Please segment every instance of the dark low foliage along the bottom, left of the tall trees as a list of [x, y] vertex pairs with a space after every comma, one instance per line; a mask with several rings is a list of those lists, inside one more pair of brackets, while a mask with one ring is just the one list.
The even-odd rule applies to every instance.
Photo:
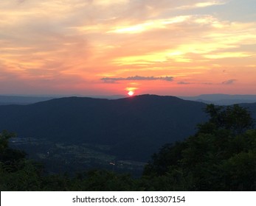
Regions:
[[26, 160], [24, 152], [10, 149], [13, 133], [0, 135], [1, 191], [132, 191], [135, 180], [128, 174], [93, 170], [69, 177], [67, 174], [44, 174], [40, 163]]

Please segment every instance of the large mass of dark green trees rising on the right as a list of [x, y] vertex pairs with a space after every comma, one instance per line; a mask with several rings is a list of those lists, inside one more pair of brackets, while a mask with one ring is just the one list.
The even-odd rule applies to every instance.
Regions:
[[[238, 105], [206, 108], [210, 120], [182, 143], [163, 146], [145, 167], [151, 187], [172, 191], [254, 191], [256, 130]], [[145, 178], [144, 177], [144, 178]], [[165, 180], [165, 181], [163, 181]]]

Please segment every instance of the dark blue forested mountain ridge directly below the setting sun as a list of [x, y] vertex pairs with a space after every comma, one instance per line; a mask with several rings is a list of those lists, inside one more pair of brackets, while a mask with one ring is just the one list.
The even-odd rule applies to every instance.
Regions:
[[[256, 118], [256, 103], [242, 104]], [[165, 143], [181, 141], [207, 120], [206, 104], [174, 96], [124, 99], [67, 97], [27, 105], [1, 105], [0, 130], [22, 138], [106, 145], [108, 154], [147, 161]]]

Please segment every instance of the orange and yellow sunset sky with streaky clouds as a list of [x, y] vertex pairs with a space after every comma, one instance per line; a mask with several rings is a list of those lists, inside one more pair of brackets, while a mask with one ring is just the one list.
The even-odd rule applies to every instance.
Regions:
[[0, 94], [256, 94], [255, 0], [0, 0]]

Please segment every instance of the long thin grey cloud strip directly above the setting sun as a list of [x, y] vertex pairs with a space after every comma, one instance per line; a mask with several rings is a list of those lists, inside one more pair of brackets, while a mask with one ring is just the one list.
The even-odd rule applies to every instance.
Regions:
[[134, 76], [134, 77], [105, 77], [100, 80], [103, 80], [105, 83], [116, 83], [118, 81], [144, 81], [144, 80], [163, 80], [167, 82], [173, 81], [173, 77], [141, 77], [141, 76]]

